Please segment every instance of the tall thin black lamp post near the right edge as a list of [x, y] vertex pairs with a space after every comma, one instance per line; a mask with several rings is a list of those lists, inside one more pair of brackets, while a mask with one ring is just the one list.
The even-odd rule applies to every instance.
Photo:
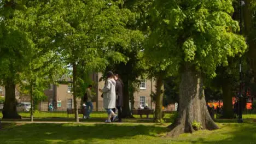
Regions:
[[[240, 34], [242, 35], [243, 32], [243, 26], [242, 26], [242, 20], [243, 20], [243, 6], [245, 5], [245, 1], [241, 0], [240, 3]], [[239, 64], [239, 75], [240, 75], [240, 92], [238, 94], [238, 119], [237, 122], [238, 123], [243, 123], [243, 117], [242, 117], [242, 113], [243, 113], [243, 106], [242, 106], [242, 57], [240, 58], [240, 64]]]

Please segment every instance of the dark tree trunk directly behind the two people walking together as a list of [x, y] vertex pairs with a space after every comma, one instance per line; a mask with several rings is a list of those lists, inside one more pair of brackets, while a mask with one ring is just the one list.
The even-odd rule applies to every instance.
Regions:
[[130, 97], [129, 97], [129, 81], [126, 77], [123, 79], [124, 83], [124, 97], [123, 97], [123, 111], [122, 111], [122, 118], [133, 118], [130, 110]]

